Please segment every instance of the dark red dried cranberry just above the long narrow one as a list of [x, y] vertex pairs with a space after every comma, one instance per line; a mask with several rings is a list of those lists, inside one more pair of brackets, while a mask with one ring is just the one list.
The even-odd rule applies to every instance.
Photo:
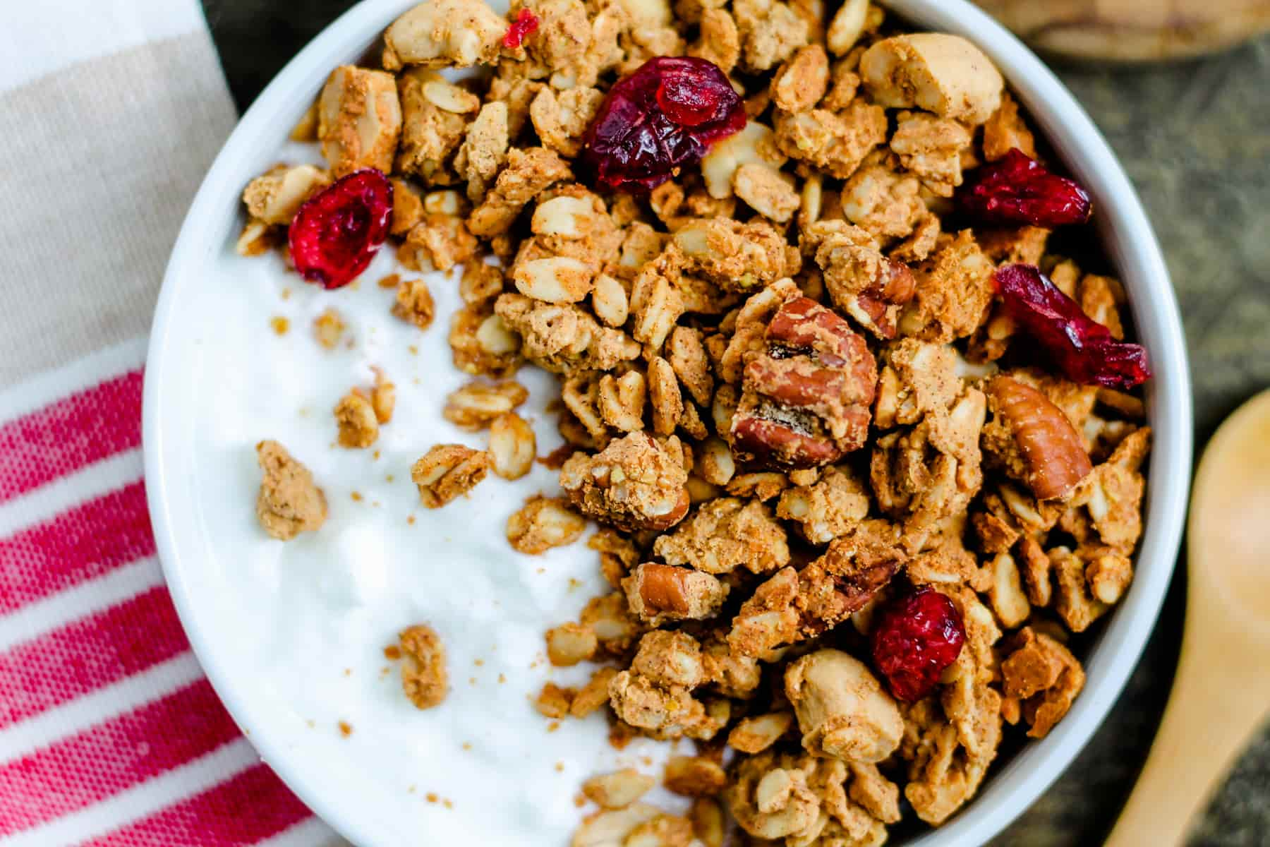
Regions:
[[1090, 196], [1074, 182], [1045, 170], [1017, 147], [983, 165], [958, 192], [958, 202], [987, 223], [1062, 226], [1090, 220]]

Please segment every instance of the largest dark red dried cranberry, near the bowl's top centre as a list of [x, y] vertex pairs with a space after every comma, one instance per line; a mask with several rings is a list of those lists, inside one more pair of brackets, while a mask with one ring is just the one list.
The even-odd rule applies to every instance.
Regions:
[[583, 161], [608, 188], [657, 188], [745, 126], [740, 97], [705, 58], [659, 56], [618, 80], [587, 128]]

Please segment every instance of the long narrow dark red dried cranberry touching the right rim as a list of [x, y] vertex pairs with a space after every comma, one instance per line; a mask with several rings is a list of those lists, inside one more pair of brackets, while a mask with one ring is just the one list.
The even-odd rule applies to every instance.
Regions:
[[1059, 291], [1035, 265], [997, 269], [997, 293], [1006, 312], [1045, 350], [1063, 375], [1082, 385], [1132, 389], [1151, 378], [1147, 350], [1111, 337], [1080, 303]]

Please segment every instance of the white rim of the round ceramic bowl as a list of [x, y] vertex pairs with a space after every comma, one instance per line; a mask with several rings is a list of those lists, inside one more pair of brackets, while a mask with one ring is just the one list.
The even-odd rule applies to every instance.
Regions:
[[[363, 52], [414, 0], [362, 0], [318, 34], [260, 93], [230, 135], [190, 204], [164, 274], [147, 350], [142, 404], [142, 446], [146, 494], [159, 559], [178, 616], [203, 672], [237, 725], [277, 775], [321, 819], [349, 841], [366, 827], [349, 804], [323, 790], [319, 773], [291, 761], [284, 744], [269, 733], [264, 712], [253, 702], [251, 687], [236, 681], [222, 662], [216, 634], [201, 629], [192, 610], [197, 598], [184, 579], [193, 557], [182, 556], [174, 532], [168, 453], [179, 433], [163, 427], [165, 392], [180, 343], [174, 314], [180, 292], [196, 284], [199, 260], [220, 249], [210, 244], [204, 220], [236, 204], [241, 161], [258, 141], [277, 143], [279, 116], [298, 117], [321, 80], [338, 63]], [[881, 0], [895, 14], [919, 27], [960, 34], [993, 60], [1011, 90], [1041, 128], [1068, 169], [1095, 197], [1100, 240], [1130, 292], [1129, 305], [1156, 378], [1148, 385], [1148, 417], [1154, 429], [1144, 532], [1135, 557], [1135, 579], [1110, 616], [1086, 660], [1087, 682], [1067, 717], [1046, 738], [1029, 743], [999, 768], [978, 795], [949, 823], [908, 842], [912, 847], [982, 844], [1019, 817], [1071, 764], [1123, 691], [1154, 627], [1177, 559], [1185, 522], [1193, 461], [1190, 373], [1176, 296], [1160, 245], [1146, 212], [1119, 161], [1093, 122], [1054, 74], [987, 14], [966, 0]], [[290, 124], [284, 124], [290, 126]]]

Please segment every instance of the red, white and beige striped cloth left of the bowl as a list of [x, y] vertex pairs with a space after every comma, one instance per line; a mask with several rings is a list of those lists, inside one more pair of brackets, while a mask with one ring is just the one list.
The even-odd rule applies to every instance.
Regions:
[[196, 0], [0, 28], [0, 847], [342, 844], [203, 678], [155, 556], [144, 334], [234, 112]]

